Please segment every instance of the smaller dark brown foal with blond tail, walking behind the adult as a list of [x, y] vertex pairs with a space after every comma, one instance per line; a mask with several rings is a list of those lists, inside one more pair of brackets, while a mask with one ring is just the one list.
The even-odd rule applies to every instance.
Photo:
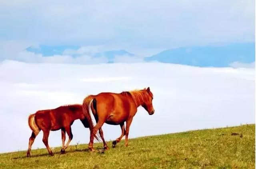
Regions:
[[[62, 149], [60, 152], [65, 153], [65, 149], [68, 147], [70, 141], [73, 138], [71, 125], [76, 119], [80, 119], [84, 127], [89, 127], [90, 130], [93, 128], [91, 118], [87, 117], [86, 114], [83, 113], [82, 105], [80, 104], [60, 106], [56, 109], [40, 110], [34, 114], [31, 114], [28, 117], [28, 125], [32, 130], [32, 134], [29, 139], [27, 157], [30, 156], [31, 146], [40, 130], [44, 132], [44, 145], [46, 146], [49, 154], [53, 155], [52, 150], [48, 145], [48, 136], [50, 131], [56, 131], [61, 129]], [[68, 134], [69, 139], [66, 145], [64, 146], [66, 132]]]

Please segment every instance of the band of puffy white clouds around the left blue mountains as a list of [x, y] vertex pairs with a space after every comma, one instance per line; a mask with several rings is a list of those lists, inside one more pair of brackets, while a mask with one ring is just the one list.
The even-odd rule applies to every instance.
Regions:
[[[106, 50], [114, 50], [109, 46], [82, 46], [78, 50], [67, 49], [62, 55], [42, 56], [26, 51], [30, 46], [28, 43], [6, 41], [1, 42], [0, 61], [2, 60], [17, 60], [28, 63], [64, 63], [64, 64], [100, 64], [108, 63], [109, 60], [104, 56]], [[100, 57], [94, 57], [95, 54], [102, 54]], [[141, 56], [115, 56], [114, 62], [134, 63], [144, 62]]]

